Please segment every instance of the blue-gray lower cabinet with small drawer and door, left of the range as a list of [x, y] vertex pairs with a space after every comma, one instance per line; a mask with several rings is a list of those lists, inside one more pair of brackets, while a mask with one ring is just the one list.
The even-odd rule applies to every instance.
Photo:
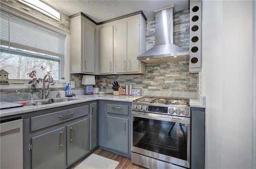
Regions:
[[131, 103], [105, 101], [105, 147], [130, 157]]

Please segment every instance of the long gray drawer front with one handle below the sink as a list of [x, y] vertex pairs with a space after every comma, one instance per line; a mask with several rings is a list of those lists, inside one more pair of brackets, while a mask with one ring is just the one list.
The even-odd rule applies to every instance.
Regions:
[[30, 118], [30, 131], [34, 132], [42, 128], [53, 126], [68, 120], [72, 120], [78, 117], [86, 116], [89, 112], [89, 106], [81, 106], [78, 108], [72, 108], [68, 110], [62, 110], [50, 114], [44, 114], [41, 116], [35, 116]]

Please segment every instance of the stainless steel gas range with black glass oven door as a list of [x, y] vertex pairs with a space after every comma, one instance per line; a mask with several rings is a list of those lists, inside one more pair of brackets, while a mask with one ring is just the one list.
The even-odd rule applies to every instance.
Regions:
[[190, 103], [187, 98], [144, 96], [132, 102], [132, 163], [190, 168]]

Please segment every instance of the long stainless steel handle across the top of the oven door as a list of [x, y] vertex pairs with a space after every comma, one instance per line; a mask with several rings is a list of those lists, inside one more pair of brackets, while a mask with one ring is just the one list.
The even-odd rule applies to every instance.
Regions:
[[[162, 121], [168, 121], [168, 122], [177, 122], [177, 123], [188, 123], [190, 124], [190, 118], [186, 118], [186, 117], [172, 117], [169, 115], [159, 115], [159, 114], [150, 114], [150, 115], [146, 115], [146, 114], [140, 114], [137, 112], [132, 112], [132, 116], [134, 117], [141, 117], [141, 118], [148, 118], [148, 119], [152, 119], [152, 120], [162, 120]], [[168, 117], [166, 117], [168, 116]]]

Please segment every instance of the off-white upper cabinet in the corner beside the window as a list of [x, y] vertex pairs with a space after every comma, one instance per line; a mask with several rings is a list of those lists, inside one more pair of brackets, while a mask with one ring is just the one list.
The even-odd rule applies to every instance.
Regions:
[[95, 74], [95, 30], [84, 16], [70, 18], [70, 73]]

